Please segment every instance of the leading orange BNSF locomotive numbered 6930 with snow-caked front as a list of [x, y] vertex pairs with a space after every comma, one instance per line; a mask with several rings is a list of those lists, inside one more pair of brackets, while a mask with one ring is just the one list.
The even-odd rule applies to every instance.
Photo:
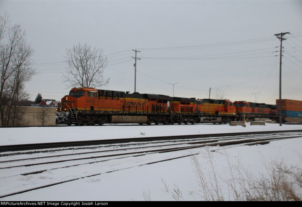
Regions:
[[58, 106], [56, 124], [169, 123], [169, 96], [73, 88]]

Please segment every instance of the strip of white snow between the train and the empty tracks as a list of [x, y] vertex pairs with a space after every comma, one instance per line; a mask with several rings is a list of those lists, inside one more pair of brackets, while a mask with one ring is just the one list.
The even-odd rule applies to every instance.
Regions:
[[173, 136], [186, 134], [213, 134], [249, 131], [302, 129], [302, 125], [279, 124], [246, 125], [232, 127], [228, 124], [174, 124], [174, 125], [103, 125], [71, 127], [21, 127], [0, 128], [0, 145], [104, 140], [132, 137]]

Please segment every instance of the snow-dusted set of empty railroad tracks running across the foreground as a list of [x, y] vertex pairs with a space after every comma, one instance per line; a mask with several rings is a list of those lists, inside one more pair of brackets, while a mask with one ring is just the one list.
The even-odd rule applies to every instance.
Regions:
[[[212, 150], [215, 151], [219, 150], [221, 146], [226, 147], [227, 145], [265, 144], [280, 139], [302, 137], [302, 130], [286, 133], [282, 131], [278, 133], [221, 135], [189, 136], [189, 138], [182, 136], [182, 139], [179, 139], [180, 136], [173, 136], [175, 139], [172, 140], [163, 137], [152, 141], [144, 140], [143, 143], [107, 143], [100, 147], [82, 146], [63, 151], [54, 149], [51, 155], [46, 151], [20, 152], [19, 155], [18, 153], [17, 155], [2, 153], [0, 158], [0, 182], [8, 183], [8, 185], [0, 187], [0, 198], [80, 178], [191, 156], [192, 154], [188, 150], [194, 148], [217, 146]], [[177, 137], [178, 139], [176, 139]], [[33, 183], [35, 180], [42, 180], [43, 182], [24, 185], [20, 188], [20, 180], [28, 180], [29, 183]]]

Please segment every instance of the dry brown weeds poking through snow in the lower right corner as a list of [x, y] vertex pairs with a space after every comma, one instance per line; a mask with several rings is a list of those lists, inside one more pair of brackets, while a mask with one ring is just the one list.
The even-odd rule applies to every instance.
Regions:
[[[222, 201], [223, 184], [226, 184], [228, 199], [234, 201], [301, 201], [302, 196], [302, 169], [298, 166], [288, 166], [284, 158], [262, 162], [267, 175], [255, 177], [248, 172], [238, 161], [232, 165], [226, 156], [227, 166], [224, 174], [217, 174], [213, 154], [206, 149], [204, 157], [207, 158], [208, 167], [198, 162], [198, 156], [191, 156], [191, 164], [197, 177], [199, 190], [190, 191], [194, 199], [204, 201]], [[193, 153], [192, 153], [193, 154]]]

